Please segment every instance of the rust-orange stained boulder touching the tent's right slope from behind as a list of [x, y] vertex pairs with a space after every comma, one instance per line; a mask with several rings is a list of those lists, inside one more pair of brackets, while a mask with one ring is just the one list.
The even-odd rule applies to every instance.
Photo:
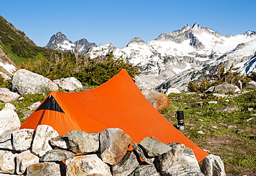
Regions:
[[170, 108], [170, 99], [167, 95], [156, 90], [143, 90], [142, 93], [156, 110], [161, 111]]

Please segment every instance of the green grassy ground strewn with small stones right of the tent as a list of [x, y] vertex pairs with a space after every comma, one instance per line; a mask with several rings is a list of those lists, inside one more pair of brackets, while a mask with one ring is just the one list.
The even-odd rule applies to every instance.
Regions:
[[[199, 147], [219, 155], [227, 175], [256, 175], [256, 89], [225, 97], [201, 92], [172, 93], [169, 97], [171, 108], [164, 110], [163, 116], [177, 125], [175, 112], [183, 110], [185, 130], [181, 132]], [[239, 110], [214, 111], [231, 105], [237, 105]]]

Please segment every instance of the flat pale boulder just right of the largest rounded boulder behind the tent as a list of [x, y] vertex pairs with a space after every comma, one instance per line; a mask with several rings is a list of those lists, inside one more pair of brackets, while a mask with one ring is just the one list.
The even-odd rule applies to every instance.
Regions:
[[80, 90], [84, 88], [81, 82], [78, 81], [75, 77], [67, 77], [62, 79], [56, 79], [53, 81], [55, 82], [55, 84], [60, 86], [60, 88], [68, 91]]

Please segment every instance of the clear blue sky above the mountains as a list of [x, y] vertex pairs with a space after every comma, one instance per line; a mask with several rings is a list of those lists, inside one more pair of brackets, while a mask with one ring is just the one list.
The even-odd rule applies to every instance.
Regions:
[[221, 35], [256, 30], [255, 7], [255, 0], [1, 0], [0, 15], [37, 46], [62, 32], [73, 42], [122, 48], [134, 37], [148, 42], [194, 23]]

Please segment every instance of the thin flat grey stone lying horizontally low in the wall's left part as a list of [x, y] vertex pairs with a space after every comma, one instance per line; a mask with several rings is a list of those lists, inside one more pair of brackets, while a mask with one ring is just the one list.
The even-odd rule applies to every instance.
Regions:
[[41, 158], [41, 162], [60, 162], [62, 160], [66, 160], [68, 158], [74, 157], [75, 153], [67, 151], [67, 150], [48, 150], [46, 154], [44, 154]]

